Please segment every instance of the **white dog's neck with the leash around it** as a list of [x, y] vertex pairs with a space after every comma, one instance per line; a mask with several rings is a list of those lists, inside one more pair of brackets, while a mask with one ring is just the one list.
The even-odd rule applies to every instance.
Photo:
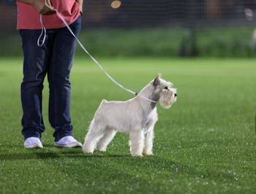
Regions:
[[160, 98], [159, 94], [154, 93], [154, 85], [151, 83], [146, 85], [146, 87], [143, 88], [138, 95], [139, 96], [137, 96], [136, 99], [139, 101], [140, 105], [143, 106], [143, 109], [146, 109], [149, 112], [151, 112], [151, 110], [157, 106], [157, 103], [147, 101], [146, 99], [140, 98], [140, 96], [149, 98], [153, 101], [159, 101]]

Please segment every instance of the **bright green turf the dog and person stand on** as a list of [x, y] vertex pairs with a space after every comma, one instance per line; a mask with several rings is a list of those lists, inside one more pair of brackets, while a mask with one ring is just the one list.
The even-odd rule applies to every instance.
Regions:
[[[157, 72], [178, 88], [178, 102], [159, 107], [154, 156], [132, 158], [127, 134], [107, 152], [53, 147], [48, 86], [42, 150], [23, 149], [22, 60], [0, 61], [0, 193], [255, 193], [255, 60], [116, 58], [100, 60], [119, 82], [140, 90]], [[91, 61], [72, 69], [72, 123], [83, 141], [102, 98], [131, 98]]]

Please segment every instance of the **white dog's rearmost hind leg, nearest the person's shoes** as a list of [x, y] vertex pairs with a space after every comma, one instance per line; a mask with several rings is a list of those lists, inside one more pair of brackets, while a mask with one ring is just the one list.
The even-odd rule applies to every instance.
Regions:
[[86, 139], [83, 144], [83, 152], [93, 153], [97, 145], [97, 142], [104, 135], [104, 133], [105, 133], [104, 127], [91, 123], [89, 132], [86, 134]]

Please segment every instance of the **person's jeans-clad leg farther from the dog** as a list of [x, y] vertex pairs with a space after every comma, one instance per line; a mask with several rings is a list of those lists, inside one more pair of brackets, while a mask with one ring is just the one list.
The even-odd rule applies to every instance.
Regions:
[[41, 137], [45, 130], [42, 120], [42, 88], [49, 59], [50, 42], [37, 46], [41, 31], [20, 30], [23, 48], [23, 82], [21, 83], [21, 103], [23, 108], [22, 133], [24, 139]]

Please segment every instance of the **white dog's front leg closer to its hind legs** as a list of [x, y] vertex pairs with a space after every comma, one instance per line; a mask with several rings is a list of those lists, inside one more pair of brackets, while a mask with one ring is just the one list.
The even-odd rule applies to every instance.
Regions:
[[133, 129], [129, 133], [129, 146], [132, 156], [143, 157], [144, 134], [140, 129]]

